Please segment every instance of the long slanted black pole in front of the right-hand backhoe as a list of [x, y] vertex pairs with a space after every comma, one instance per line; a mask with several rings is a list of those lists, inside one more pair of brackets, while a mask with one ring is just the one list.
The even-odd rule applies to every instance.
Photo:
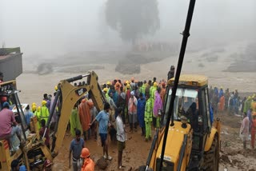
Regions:
[[169, 113], [167, 116], [166, 129], [165, 129], [165, 134], [164, 134], [163, 142], [162, 142], [162, 153], [161, 153], [161, 161], [160, 161], [159, 170], [162, 170], [162, 161], [163, 161], [165, 150], [166, 150], [166, 139], [167, 139], [167, 134], [168, 134], [168, 130], [169, 130], [170, 117], [171, 117], [170, 125], [174, 125], [174, 116], [172, 114], [173, 110], [174, 110], [174, 100], [175, 100], [176, 91], [177, 91], [177, 87], [178, 87], [179, 76], [182, 71], [182, 63], [183, 63], [184, 54], [186, 51], [186, 42], [190, 36], [190, 25], [191, 25], [191, 21], [192, 21], [192, 17], [193, 17], [193, 12], [194, 12], [194, 4], [195, 4], [195, 0], [190, 0], [189, 10], [188, 10], [188, 13], [186, 16], [186, 26], [185, 26], [185, 30], [182, 33], [182, 35], [183, 35], [182, 46], [181, 46], [181, 50], [180, 50], [180, 54], [179, 54], [179, 58], [178, 58], [178, 67], [177, 67], [176, 74], [175, 74], [174, 87], [172, 89], [171, 98], [170, 98], [170, 110], [169, 110]]

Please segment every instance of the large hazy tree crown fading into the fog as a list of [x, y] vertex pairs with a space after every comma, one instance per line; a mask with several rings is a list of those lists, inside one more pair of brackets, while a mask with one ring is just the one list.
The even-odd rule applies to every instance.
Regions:
[[157, 0], [107, 0], [106, 22], [123, 41], [134, 42], [160, 28]]

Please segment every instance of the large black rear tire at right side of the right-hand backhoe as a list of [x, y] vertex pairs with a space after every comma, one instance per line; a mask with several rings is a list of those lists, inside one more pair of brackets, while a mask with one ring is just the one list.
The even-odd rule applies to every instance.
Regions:
[[204, 162], [202, 170], [218, 171], [219, 150], [218, 150], [218, 135], [214, 137], [213, 144], [209, 151], [204, 153]]

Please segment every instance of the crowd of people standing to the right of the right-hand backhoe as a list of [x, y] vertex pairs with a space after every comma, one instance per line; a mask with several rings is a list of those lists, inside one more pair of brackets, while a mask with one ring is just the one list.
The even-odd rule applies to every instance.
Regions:
[[246, 149], [246, 142], [250, 141], [251, 149], [254, 149], [255, 133], [256, 133], [256, 94], [241, 98], [238, 89], [225, 92], [221, 87], [212, 88], [210, 86], [210, 103], [214, 109], [214, 113], [229, 115], [240, 115], [243, 117], [242, 125], [239, 132], [243, 142], [243, 148]]

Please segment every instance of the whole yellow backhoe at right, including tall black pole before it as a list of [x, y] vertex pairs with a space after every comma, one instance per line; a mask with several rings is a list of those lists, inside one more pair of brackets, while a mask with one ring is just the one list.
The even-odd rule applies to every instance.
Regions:
[[161, 128], [156, 129], [146, 165], [140, 170], [218, 170], [221, 121], [214, 121], [208, 78], [181, 75], [195, 0], [190, 0], [178, 67], [166, 87]]

